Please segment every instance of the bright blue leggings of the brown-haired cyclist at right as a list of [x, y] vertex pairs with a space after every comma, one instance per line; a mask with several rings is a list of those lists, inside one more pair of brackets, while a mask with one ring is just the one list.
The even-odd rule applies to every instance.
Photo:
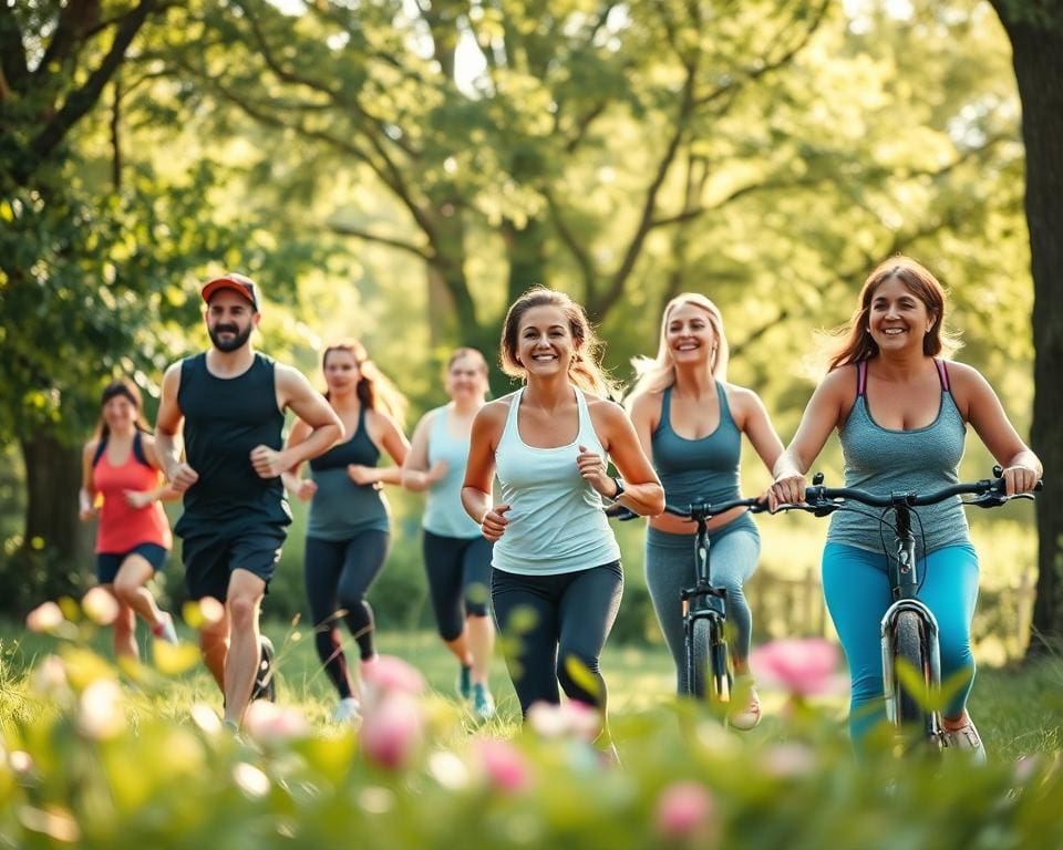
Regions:
[[[970, 545], [930, 552], [920, 564], [918, 597], [938, 621], [941, 681], [958, 690], [946, 706], [958, 717], [974, 684], [971, 620], [978, 600], [978, 554]], [[879, 624], [892, 602], [886, 554], [845, 543], [823, 550], [823, 595], [845, 650], [852, 680], [849, 734], [859, 749], [864, 736], [886, 718]]]

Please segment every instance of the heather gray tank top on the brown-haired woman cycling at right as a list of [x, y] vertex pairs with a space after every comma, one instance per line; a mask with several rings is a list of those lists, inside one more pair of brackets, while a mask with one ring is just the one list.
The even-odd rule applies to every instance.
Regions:
[[[967, 425], [952, 398], [948, 369], [940, 360], [935, 360], [935, 365], [941, 380], [941, 405], [937, 418], [922, 428], [894, 431], [881, 427], [871, 418], [867, 406], [867, 362], [856, 364], [856, 402], [838, 428], [846, 487], [877, 495], [907, 490], [927, 493], [959, 480], [958, 467], [963, 457]], [[891, 551], [892, 531], [867, 516], [880, 511], [875, 508], [863, 510], [863, 514], [849, 510], [833, 514], [827, 542], [880, 552], [885, 535], [887, 548]], [[916, 508], [912, 512], [918, 515], [911, 522], [918, 557], [947, 546], [970, 542], [967, 515], [959, 496]]]

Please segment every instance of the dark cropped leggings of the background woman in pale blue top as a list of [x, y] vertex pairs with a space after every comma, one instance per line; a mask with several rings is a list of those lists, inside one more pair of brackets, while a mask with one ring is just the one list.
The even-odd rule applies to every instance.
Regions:
[[487, 616], [491, 543], [483, 537], [443, 537], [425, 529], [422, 550], [440, 636], [457, 640], [466, 615]]

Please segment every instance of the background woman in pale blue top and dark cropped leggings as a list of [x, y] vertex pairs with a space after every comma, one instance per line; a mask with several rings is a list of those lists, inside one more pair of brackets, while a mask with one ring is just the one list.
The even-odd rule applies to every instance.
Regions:
[[457, 659], [457, 691], [473, 714], [495, 714], [487, 667], [495, 628], [487, 611], [491, 542], [462, 508], [473, 417], [484, 406], [487, 361], [476, 349], [457, 349], [446, 365], [451, 402], [429, 411], [414, 428], [402, 467], [403, 486], [426, 491], [423, 552], [440, 636]]

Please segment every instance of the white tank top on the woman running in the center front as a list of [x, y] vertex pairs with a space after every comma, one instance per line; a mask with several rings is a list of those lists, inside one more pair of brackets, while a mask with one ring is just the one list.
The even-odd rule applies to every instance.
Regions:
[[579, 387], [579, 431], [567, 446], [536, 448], [520, 439], [517, 411], [524, 387], [513, 395], [495, 449], [502, 502], [512, 508], [506, 532], [494, 546], [492, 566], [522, 576], [577, 572], [620, 560], [620, 547], [601, 509], [601, 496], [579, 475], [579, 446], [603, 455]]

